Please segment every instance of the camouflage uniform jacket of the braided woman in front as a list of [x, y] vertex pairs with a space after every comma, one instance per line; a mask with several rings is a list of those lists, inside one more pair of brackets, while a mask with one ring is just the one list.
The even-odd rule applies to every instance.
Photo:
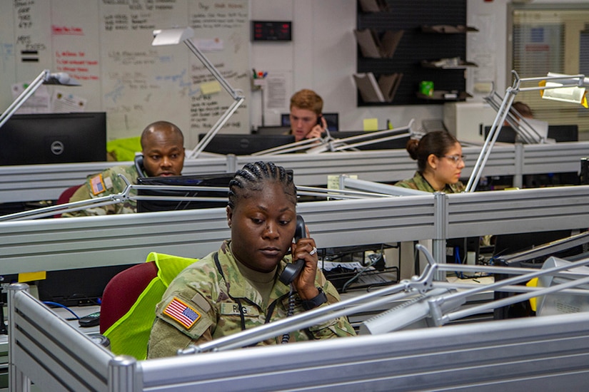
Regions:
[[[276, 279], [268, 303], [259, 292], [239, 273], [236, 261], [226, 240], [218, 252], [192, 264], [181, 272], [163, 294], [156, 306], [156, 321], [151, 329], [148, 358], [175, 356], [178, 349], [190, 344], [202, 344], [242, 330], [261, 326], [266, 322], [286, 317], [289, 287]], [[216, 267], [215, 254], [222, 274]], [[277, 277], [291, 256], [278, 265]], [[316, 286], [327, 294], [328, 303], [339, 301], [335, 287], [326, 280], [321, 271], [316, 276]], [[295, 294], [293, 314], [301, 313], [301, 299]], [[323, 304], [321, 306], [327, 306]], [[243, 313], [239, 308], [243, 309]], [[243, 319], [242, 319], [243, 317]], [[338, 336], [353, 336], [355, 332], [345, 316], [291, 332], [289, 341], [331, 339]], [[279, 344], [282, 336], [267, 339], [258, 345]]]

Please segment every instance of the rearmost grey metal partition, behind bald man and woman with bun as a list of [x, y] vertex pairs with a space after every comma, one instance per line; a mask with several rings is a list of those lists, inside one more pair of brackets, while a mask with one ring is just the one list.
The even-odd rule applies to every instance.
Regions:
[[[520, 186], [522, 175], [540, 172], [578, 172], [580, 158], [587, 156], [589, 142], [549, 145], [494, 146], [483, 175], [514, 175]], [[529, 154], [528, 154], [529, 152]], [[463, 176], [472, 172], [480, 147], [465, 147]], [[416, 164], [406, 150], [373, 150], [322, 154], [285, 154], [265, 157], [211, 155], [186, 160], [183, 174], [235, 172], [243, 164], [272, 160], [294, 170], [297, 185], [326, 185], [328, 175], [358, 175], [363, 180], [394, 182], [413, 176]], [[16, 165], [0, 167], [0, 203], [57, 200], [66, 188], [79, 185], [86, 176], [113, 165], [131, 162], [64, 163], [59, 165]]]

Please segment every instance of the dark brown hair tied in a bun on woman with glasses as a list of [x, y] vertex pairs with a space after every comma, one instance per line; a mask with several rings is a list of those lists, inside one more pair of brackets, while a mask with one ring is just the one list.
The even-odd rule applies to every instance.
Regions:
[[411, 159], [417, 161], [418, 172], [423, 173], [428, 167], [430, 155], [436, 155], [438, 158], [443, 157], [456, 143], [460, 142], [451, 133], [445, 130], [436, 130], [426, 133], [421, 139], [409, 139], [406, 150]]

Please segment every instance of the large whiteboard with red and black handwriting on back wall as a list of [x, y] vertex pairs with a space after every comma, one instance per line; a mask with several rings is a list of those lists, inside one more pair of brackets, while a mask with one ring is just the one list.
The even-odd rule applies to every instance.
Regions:
[[193, 148], [233, 98], [201, 92], [215, 79], [184, 43], [151, 46], [154, 29], [190, 26], [196, 46], [246, 97], [222, 132], [249, 132], [248, 0], [0, 0], [0, 9], [2, 111], [14, 83], [44, 69], [66, 72], [81, 86], [47, 87], [83, 98], [86, 111], [106, 111], [108, 140], [168, 120]]

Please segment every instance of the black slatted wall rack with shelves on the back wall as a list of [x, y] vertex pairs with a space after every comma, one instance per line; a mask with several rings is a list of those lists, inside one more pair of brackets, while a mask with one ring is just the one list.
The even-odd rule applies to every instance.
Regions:
[[[366, 11], [365, 1], [358, 1], [356, 30], [369, 29], [379, 37], [386, 31], [403, 31], [390, 58], [368, 58], [357, 45], [356, 73], [373, 73], [377, 81], [381, 75], [403, 75], [392, 101], [385, 105], [441, 105], [447, 101], [418, 97], [421, 81], [433, 81], [438, 91], [465, 91], [464, 69], [476, 64], [461, 60], [455, 66], [431, 65], [435, 59], [466, 58], [465, 33], [476, 31], [466, 26], [466, 0], [368, 1], [376, 4], [371, 8], [374, 11]], [[383, 103], [365, 102], [358, 93], [358, 106], [369, 105]]]

